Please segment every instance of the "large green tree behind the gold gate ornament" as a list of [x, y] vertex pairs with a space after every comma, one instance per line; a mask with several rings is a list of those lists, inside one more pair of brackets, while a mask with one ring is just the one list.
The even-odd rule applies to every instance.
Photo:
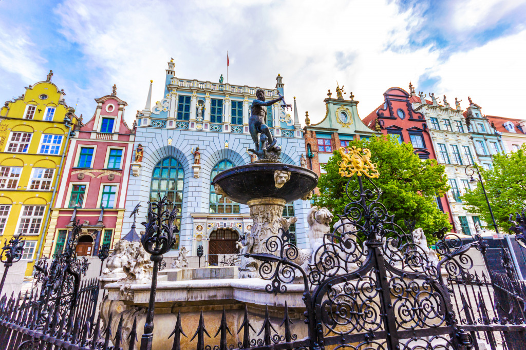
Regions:
[[[413, 153], [410, 143], [399, 143], [395, 138], [372, 137], [370, 141], [354, 140], [350, 146], [368, 148], [371, 151], [371, 162], [377, 163], [380, 173], [373, 182], [380, 189], [380, 202], [385, 205], [390, 215], [395, 215], [397, 223], [404, 231], [408, 228], [404, 219], [416, 220], [416, 227], [421, 227], [426, 233], [428, 243], [436, 241], [432, 233], [443, 227], [451, 228], [448, 215], [437, 207], [436, 196], [442, 196], [449, 189], [444, 166], [436, 160], [422, 160]], [[341, 155], [338, 151], [322, 168], [327, 172], [321, 174], [318, 181], [319, 195], [315, 195], [316, 205], [327, 207], [332, 213], [342, 214], [349, 198], [345, 187], [349, 178], [343, 178], [338, 173], [338, 161]], [[364, 176], [363, 185], [366, 189], [373, 186]], [[358, 179], [351, 177], [349, 194], [358, 189]], [[337, 217], [335, 217], [337, 221]], [[409, 232], [408, 232], [409, 233]]]

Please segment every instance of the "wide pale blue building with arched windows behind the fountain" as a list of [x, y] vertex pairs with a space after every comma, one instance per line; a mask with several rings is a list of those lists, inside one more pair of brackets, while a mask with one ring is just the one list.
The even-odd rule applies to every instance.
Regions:
[[[264, 89], [267, 100], [277, 98], [278, 91], [283, 95], [282, 77], [276, 80], [275, 88]], [[211, 180], [222, 170], [250, 162], [247, 149], [254, 148], [254, 142], [248, 117], [256, 89], [177, 78], [173, 61], [166, 70], [163, 99], [153, 108], [150, 84], [146, 107], [136, 116], [135, 151], [140, 144], [144, 155], [140, 161], [132, 159], [126, 210], [131, 212], [140, 202], [138, 218], [144, 218], [147, 202], [157, 197], [157, 191], [168, 195], [180, 208], [180, 240], [175, 250], [185, 246], [190, 255], [196, 255], [197, 246], [203, 244], [205, 255], [235, 253], [239, 234], [249, 231], [252, 220], [247, 205], [216, 195]], [[267, 111], [267, 124], [282, 149], [281, 161], [299, 166], [305, 142], [297, 114], [291, 116], [279, 104]], [[195, 164], [197, 147], [199, 164]], [[309, 208], [308, 201], [298, 200], [287, 204], [284, 211], [284, 217], [298, 218], [291, 230], [297, 232], [301, 247], [308, 244], [305, 218]], [[129, 228], [131, 222], [125, 218], [124, 227]]]

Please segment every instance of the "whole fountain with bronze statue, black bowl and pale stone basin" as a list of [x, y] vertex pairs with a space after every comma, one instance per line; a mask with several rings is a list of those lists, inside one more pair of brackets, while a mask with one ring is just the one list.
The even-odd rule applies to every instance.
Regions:
[[[206, 320], [210, 322], [207, 326], [216, 327], [221, 322], [221, 309], [227, 308], [227, 323], [232, 330], [238, 330], [243, 322], [242, 316], [247, 310], [251, 313], [256, 329], [268, 319], [265, 317], [266, 313], [270, 313], [271, 318], [282, 318], [282, 307], [288, 305], [290, 318], [297, 321], [293, 327], [295, 332], [298, 336], [306, 336], [300, 322], [305, 310], [302, 300], [304, 287], [301, 284], [291, 284], [288, 286], [287, 295], [280, 294], [270, 299], [266, 288], [268, 282], [258, 278], [260, 263], [249, 255], [268, 253], [265, 245], [267, 239], [277, 235], [280, 228], [287, 230], [288, 225], [296, 220], [285, 220], [281, 217], [285, 204], [298, 199], [310, 199], [312, 190], [317, 186], [318, 177], [309, 169], [279, 162], [281, 149], [265, 123], [266, 106], [284, 99], [280, 96], [278, 99], [265, 101], [264, 91], [260, 89], [256, 91], [256, 97], [251, 105], [249, 131], [255, 143], [255, 148], [250, 151], [257, 155], [258, 160], [223, 171], [213, 179], [216, 193], [232, 201], [247, 204], [250, 216], [254, 220], [250, 232], [245, 233], [242, 239], [239, 278], [183, 281], [159, 279], [157, 282], [155, 273], [155, 292], [151, 291], [149, 283], [133, 283], [129, 278], [118, 282], [112, 280], [108, 282], [113, 283], [105, 284], [108, 294], [101, 305], [105, 323], [109, 322], [111, 315], [113, 328], [117, 326], [120, 317], [123, 317], [126, 335], [136, 320], [137, 337], [141, 336], [146, 323], [150, 334], [144, 334], [143, 338], [153, 338], [153, 342], [150, 340], [152, 349], [171, 347], [168, 336], [174, 330], [179, 313], [183, 325], [191, 325], [188, 328], [194, 329], [200, 319], [198, 310], [203, 310], [204, 306]], [[285, 102], [282, 106], [290, 107]], [[154, 207], [156, 205], [154, 204]], [[316, 211], [316, 208], [313, 209]], [[162, 255], [160, 256], [162, 259]], [[152, 255], [151, 261], [155, 261], [153, 269], [157, 269], [157, 259]], [[148, 303], [151, 305], [152, 302], [150, 294], [153, 294], [155, 317], [153, 323], [148, 325], [151, 321], [151, 315], [147, 313]], [[279, 325], [280, 321], [276, 318], [272, 322]], [[239, 335], [233, 334], [229, 343], [239, 342]], [[188, 341], [188, 338], [183, 338], [181, 347], [185, 348], [185, 344], [190, 346], [189, 343], [183, 344]]]

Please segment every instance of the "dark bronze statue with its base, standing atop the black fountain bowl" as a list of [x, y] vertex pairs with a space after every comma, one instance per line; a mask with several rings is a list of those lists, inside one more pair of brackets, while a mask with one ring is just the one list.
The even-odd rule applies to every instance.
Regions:
[[[256, 153], [260, 159], [275, 158], [273, 160], [277, 160], [277, 158], [279, 158], [279, 153], [281, 153], [281, 149], [276, 145], [278, 140], [272, 137], [272, 133], [270, 132], [266, 122], [267, 107], [282, 100], [283, 97], [280, 96], [277, 99], [265, 101], [265, 92], [262, 89], [256, 90], [256, 99], [252, 101], [252, 105], [250, 107], [248, 130], [256, 146], [255, 151], [250, 151]], [[267, 137], [268, 146], [264, 146], [263, 150], [260, 149], [261, 141], [259, 135], [265, 135]], [[264, 151], [264, 153], [261, 153], [260, 151]], [[274, 155], [270, 155], [269, 153], [274, 153]], [[260, 155], [264, 156], [264, 158], [262, 158]]]

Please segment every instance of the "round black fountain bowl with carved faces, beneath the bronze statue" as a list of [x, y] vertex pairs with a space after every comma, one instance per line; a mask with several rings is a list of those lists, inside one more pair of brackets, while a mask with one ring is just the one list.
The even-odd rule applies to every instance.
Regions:
[[[284, 184], [277, 182], [276, 172], [288, 173]], [[212, 184], [218, 184], [228, 198], [242, 204], [259, 198], [289, 203], [311, 193], [318, 184], [318, 176], [312, 170], [291, 164], [257, 162], [225, 170], [214, 177]]]

